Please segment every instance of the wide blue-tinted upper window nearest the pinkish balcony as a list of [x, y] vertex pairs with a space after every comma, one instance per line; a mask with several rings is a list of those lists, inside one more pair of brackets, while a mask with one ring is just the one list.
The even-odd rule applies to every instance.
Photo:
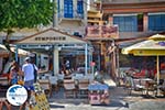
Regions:
[[113, 24], [118, 24], [120, 32], [136, 32], [138, 16], [136, 15], [117, 15], [113, 16]]

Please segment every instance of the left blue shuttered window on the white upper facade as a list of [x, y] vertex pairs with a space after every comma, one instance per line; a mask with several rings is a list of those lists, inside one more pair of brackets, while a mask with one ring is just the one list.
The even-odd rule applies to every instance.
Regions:
[[73, 18], [73, 0], [64, 0], [64, 18]]

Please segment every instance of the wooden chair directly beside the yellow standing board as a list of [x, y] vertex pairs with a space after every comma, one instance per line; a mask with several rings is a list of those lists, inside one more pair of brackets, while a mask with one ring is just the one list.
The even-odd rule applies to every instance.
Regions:
[[38, 84], [41, 88], [44, 90], [45, 95], [50, 98], [52, 95], [52, 86], [48, 79], [40, 79]]

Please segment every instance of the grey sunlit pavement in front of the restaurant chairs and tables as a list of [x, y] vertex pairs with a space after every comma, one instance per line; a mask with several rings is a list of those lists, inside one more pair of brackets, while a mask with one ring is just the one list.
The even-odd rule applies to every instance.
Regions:
[[[107, 82], [112, 82], [107, 80]], [[50, 98], [51, 110], [165, 110], [165, 98], [144, 98], [140, 94], [129, 96], [123, 87], [110, 85], [110, 103], [91, 106], [87, 98], [64, 98], [63, 89]]]

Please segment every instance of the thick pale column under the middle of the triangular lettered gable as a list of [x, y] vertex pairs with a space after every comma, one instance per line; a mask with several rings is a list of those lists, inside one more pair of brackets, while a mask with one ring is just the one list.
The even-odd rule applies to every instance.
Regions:
[[54, 75], [57, 75], [59, 73], [59, 51], [58, 47], [54, 47], [54, 62], [53, 62], [53, 70], [54, 70]]

